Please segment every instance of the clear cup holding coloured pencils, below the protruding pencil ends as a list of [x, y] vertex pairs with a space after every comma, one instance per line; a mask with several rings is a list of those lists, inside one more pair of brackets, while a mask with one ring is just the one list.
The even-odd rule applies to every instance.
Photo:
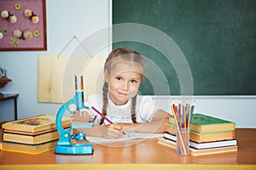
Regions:
[[177, 148], [179, 156], [189, 155], [189, 128], [177, 128]]

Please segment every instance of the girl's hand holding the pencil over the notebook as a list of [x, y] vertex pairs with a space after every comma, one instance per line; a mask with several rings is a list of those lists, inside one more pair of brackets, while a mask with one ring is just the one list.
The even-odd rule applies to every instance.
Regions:
[[109, 124], [102, 127], [102, 137], [107, 139], [117, 139], [123, 136], [123, 127], [117, 124]]

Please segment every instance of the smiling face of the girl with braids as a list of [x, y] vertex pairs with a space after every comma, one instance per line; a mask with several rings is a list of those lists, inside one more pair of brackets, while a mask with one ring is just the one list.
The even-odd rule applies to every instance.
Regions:
[[142, 75], [136, 68], [137, 65], [124, 62], [115, 65], [109, 72], [105, 71], [109, 98], [115, 105], [125, 105], [137, 94]]

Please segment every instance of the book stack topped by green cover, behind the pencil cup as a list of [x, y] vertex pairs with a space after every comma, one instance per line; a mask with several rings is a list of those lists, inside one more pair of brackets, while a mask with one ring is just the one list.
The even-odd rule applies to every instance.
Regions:
[[[236, 123], [203, 114], [193, 114], [189, 127], [189, 154], [202, 156], [237, 151]], [[166, 133], [159, 144], [176, 148], [176, 124], [169, 117]]]

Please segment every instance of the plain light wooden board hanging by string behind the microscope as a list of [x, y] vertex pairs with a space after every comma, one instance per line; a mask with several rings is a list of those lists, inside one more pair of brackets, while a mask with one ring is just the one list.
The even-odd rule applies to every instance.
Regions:
[[[76, 57], [75, 63], [82, 63], [78, 74], [84, 75], [84, 99], [90, 94], [102, 93], [103, 65], [105, 57]], [[65, 54], [39, 54], [38, 57], [38, 102], [65, 103], [75, 94], [74, 75], [67, 70], [70, 56]], [[78, 67], [73, 65], [73, 70]], [[68, 75], [67, 72], [70, 74]]]

